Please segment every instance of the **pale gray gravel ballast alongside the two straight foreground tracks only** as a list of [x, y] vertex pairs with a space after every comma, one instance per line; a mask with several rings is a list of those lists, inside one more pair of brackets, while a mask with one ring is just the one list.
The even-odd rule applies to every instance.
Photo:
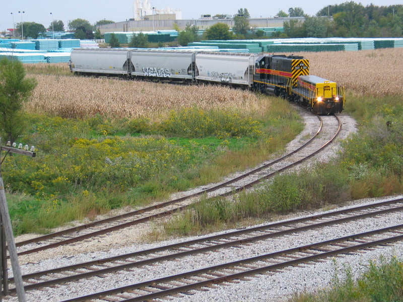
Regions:
[[[396, 197], [403, 198], [403, 195], [394, 196], [393, 198]], [[354, 206], [388, 199], [391, 199], [391, 197], [361, 200], [359, 203], [354, 203]], [[340, 207], [338, 209], [348, 207], [351, 207], [351, 205]], [[303, 232], [297, 236], [288, 235], [282, 238], [264, 240], [244, 248], [229, 248], [220, 250], [218, 252], [209, 253], [209, 255], [201, 254], [181, 258], [178, 259], [179, 261], [165, 261], [158, 264], [158, 266], [144, 266], [143, 268], [135, 268], [130, 272], [122, 271], [118, 274], [103, 275], [102, 278], [92, 277], [85, 281], [70, 282], [63, 286], [47, 288], [45, 291], [29, 291], [27, 292], [27, 300], [46, 300], [49, 302], [60, 301], [66, 298], [89, 294], [95, 291], [138, 283], [152, 278], [158, 278], [197, 268], [203, 268], [206, 266], [235, 261], [237, 259], [244, 259], [261, 254], [271, 253], [313, 242], [344, 237], [357, 232], [361, 233], [379, 228], [385, 228], [386, 226], [401, 223], [401, 221], [403, 221], [402, 218], [403, 213], [401, 212], [380, 215], [362, 219], [356, 222], [346, 222], [334, 226], [326, 226], [319, 230]], [[102, 259], [128, 252], [140, 251], [156, 246], [190, 240], [193, 238], [196, 237], [175, 239], [153, 244], [136, 244], [120, 249], [112, 249], [109, 251], [77, 254], [72, 257], [46, 259], [36, 263], [27, 263], [22, 265], [22, 272], [25, 274], [37, 270], [45, 270], [48, 268], [70, 265], [73, 263]], [[331, 258], [327, 259], [325, 262], [307, 265], [306, 267], [291, 267], [283, 269], [281, 272], [278, 272], [272, 276], [264, 275], [252, 278], [250, 281], [232, 283], [230, 286], [221, 285], [218, 288], [210, 289], [209, 291], [196, 291], [194, 295], [185, 295], [182, 298], [175, 298], [173, 301], [287, 301], [287, 298], [289, 298], [294, 292], [302, 290], [312, 291], [318, 287], [329, 286], [331, 277], [334, 276], [335, 268], [337, 267], [339, 269], [343, 269], [343, 267], [348, 266], [352, 269], [354, 275], [357, 276], [360, 272], [365, 270], [369, 261], [378, 260], [380, 255], [385, 257], [401, 257], [403, 255], [403, 244], [395, 243], [392, 246], [376, 248], [373, 251], [367, 251], [362, 254], [359, 253], [358, 255], [336, 257], [334, 258], [335, 261], [333, 261], [333, 258]], [[7, 300], [17, 301], [17, 298], [12, 297], [8, 298]]]

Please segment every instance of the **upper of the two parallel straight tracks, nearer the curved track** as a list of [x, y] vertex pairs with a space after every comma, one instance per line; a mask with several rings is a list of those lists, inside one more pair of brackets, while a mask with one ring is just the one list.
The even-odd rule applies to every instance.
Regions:
[[[212, 253], [231, 247], [244, 247], [245, 245], [257, 243], [262, 240], [289, 234], [298, 236], [302, 232], [316, 230], [324, 226], [358, 221], [360, 219], [387, 215], [399, 211], [403, 211], [403, 199], [401, 198], [327, 212], [320, 215], [260, 225], [226, 234], [198, 238], [116, 257], [26, 274], [23, 275], [24, 286], [26, 291], [44, 288], [91, 278], [93, 276], [104, 276], [123, 270], [143, 267], [145, 265], [157, 265], [163, 261], [177, 260], [185, 256]], [[10, 278], [9, 283], [13, 285], [13, 282], [14, 280]], [[15, 293], [15, 288], [10, 288], [9, 293]]]

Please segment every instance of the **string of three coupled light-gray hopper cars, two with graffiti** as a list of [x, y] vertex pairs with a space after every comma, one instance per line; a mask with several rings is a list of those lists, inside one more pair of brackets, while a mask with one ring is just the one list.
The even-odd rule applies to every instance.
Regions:
[[208, 82], [250, 88], [256, 55], [158, 49], [72, 50], [74, 73], [145, 78], [170, 82]]

